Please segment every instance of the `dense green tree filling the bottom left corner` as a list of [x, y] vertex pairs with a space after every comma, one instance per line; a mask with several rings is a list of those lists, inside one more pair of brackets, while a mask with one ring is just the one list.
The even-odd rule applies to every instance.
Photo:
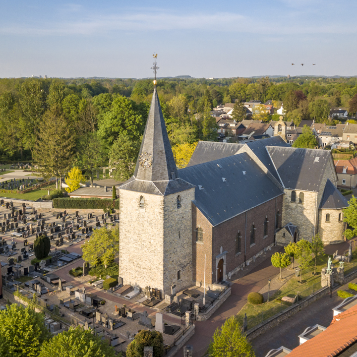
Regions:
[[37, 357], [42, 343], [50, 338], [44, 320], [45, 315], [31, 307], [7, 305], [0, 312], [0, 356]]

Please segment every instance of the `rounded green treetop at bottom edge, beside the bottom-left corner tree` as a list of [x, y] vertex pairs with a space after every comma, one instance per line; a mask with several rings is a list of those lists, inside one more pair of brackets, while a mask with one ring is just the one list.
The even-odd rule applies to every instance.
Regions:
[[91, 330], [70, 327], [45, 341], [38, 357], [115, 357], [115, 351]]

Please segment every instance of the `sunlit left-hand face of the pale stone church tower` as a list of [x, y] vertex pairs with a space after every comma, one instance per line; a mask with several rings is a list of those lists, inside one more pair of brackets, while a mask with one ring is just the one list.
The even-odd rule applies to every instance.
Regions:
[[119, 196], [119, 276], [124, 284], [163, 290], [164, 198], [121, 189]]

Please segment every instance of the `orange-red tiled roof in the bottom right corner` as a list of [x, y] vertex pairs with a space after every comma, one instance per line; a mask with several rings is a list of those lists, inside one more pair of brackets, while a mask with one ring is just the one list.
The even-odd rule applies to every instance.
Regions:
[[335, 316], [330, 326], [288, 357], [334, 357], [357, 341], [357, 305]]

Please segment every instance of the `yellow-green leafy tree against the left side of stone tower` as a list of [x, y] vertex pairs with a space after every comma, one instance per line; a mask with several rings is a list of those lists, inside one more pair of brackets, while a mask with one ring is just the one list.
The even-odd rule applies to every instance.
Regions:
[[90, 239], [82, 245], [83, 259], [90, 265], [107, 265], [114, 261], [119, 252], [119, 229], [107, 230], [105, 227], [93, 232]]

